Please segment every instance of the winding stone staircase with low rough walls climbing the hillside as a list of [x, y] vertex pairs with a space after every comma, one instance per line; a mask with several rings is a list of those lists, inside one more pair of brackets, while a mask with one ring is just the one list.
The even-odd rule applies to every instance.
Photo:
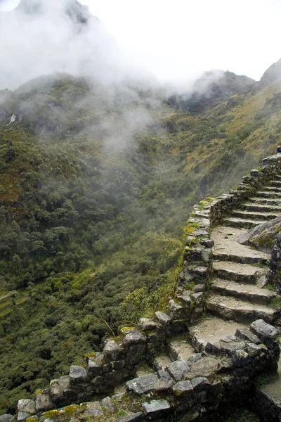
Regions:
[[[199, 421], [207, 409], [216, 411], [221, 397], [235, 399], [241, 390], [244, 399], [256, 375], [276, 369], [280, 350], [272, 325], [280, 309], [273, 307], [277, 294], [266, 288], [270, 254], [238, 238], [281, 216], [277, 168], [281, 155], [266, 159], [261, 171], [252, 170], [236, 191], [195, 205], [178, 291], [166, 312], [122, 328], [118, 338], [105, 342], [103, 352], [89, 354], [86, 368], [72, 366], [35, 401], [20, 400], [18, 421], [37, 414], [40, 422], [90, 416], [164, 422], [175, 410], [178, 421]], [[109, 392], [115, 395], [107, 397]], [[54, 407], [63, 407], [58, 418], [49, 411]]]

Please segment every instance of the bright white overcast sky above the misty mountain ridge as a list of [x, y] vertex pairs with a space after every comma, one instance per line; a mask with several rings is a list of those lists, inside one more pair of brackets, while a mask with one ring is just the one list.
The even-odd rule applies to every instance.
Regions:
[[[59, 0], [58, 0], [59, 1]], [[11, 10], [19, 0], [0, 0]], [[210, 69], [260, 79], [281, 58], [281, 0], [81, 0], [128, 60], [162, 80]]]

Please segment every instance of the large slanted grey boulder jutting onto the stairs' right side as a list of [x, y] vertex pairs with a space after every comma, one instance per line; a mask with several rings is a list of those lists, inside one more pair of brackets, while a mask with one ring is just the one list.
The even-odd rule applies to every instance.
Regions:
[[272, 252], [277, 234], [281, 230], [281, 217], [259, 224], [238, 238], [242, 245], [253, 245], [263, 252]]

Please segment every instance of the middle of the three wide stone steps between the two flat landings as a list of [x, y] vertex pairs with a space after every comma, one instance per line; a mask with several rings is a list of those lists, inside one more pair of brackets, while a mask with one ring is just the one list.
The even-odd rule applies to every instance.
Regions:
[[257, 304], [267, 304], [275, 297], [275, 293], [270, 292], [266, 288], [221, 279], [213, 281], [211, 290], [220, 295], [233, 296], [234, 298], [248, 300]]

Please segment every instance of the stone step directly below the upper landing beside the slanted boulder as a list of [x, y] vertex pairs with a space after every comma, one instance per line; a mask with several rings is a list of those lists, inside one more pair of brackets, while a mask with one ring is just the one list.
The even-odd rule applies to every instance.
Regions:
[[262, 270], [249, 264], [214, 261], [213, 271], [218, 279], [232, 280], [238, 283], [256, 283]]

